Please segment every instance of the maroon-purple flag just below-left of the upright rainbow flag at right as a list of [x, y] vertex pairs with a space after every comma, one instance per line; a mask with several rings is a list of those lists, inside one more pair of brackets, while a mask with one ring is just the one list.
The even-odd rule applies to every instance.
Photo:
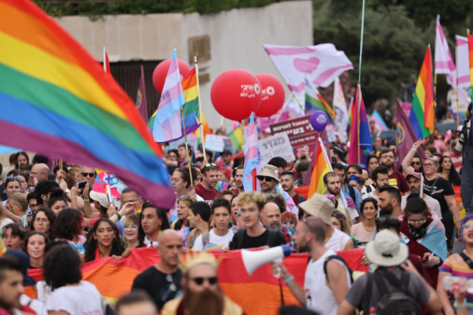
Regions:
[[[409, 123], [409, 118], [402, 110], [402, 105], [398, 102], [398, 107], [396, 108], [396, 121], [398, 125], [396, 127], [396, 145], [398, 146], [398, 151], [396, 153], [396, 170], [401, 166], [402, 160], [407, 155], [409, 150], [413, 147], [415, 141], [417, 141], [417, 136], [415, 136], [414, 129], [412, 129], [411, 123]], [[417, 150], [420, 157], [424, 158], [424, 150], [420, 147]]]

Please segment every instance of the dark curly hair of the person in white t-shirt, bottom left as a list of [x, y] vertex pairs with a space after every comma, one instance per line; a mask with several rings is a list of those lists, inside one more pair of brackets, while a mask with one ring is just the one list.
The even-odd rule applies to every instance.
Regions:
[[57, 245], [45, 255], [43, 279], [53, 290], [77, 284], [82, 279], [81, 264], [79, 254], [69, 244]]

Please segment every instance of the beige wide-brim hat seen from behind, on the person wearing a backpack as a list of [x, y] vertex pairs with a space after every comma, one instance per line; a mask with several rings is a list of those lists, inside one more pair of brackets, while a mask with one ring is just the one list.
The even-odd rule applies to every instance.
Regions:
[[366, 244], [365, 255], [373, 264], [393, 267], [407, 260], [409, 249], [400, 241], [398, 235], [389, 229], [383, 229], [376, 234], [374, 240]]

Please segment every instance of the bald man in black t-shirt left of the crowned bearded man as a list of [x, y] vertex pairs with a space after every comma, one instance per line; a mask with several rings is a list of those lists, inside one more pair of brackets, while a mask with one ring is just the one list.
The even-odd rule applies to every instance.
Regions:
[[180, 295], [182, 273], [178, 264], [182, 254], [182, 238], [177, 231], [165, 229], [158, 243], [156, 250], [161, 256], [160, 261], [134, 279], [132, 290], [145, 290], [160, 311], [167, 301]]

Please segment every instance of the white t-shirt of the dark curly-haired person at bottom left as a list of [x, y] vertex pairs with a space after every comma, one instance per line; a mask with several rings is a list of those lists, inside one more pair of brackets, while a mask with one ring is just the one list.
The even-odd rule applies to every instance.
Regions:
[[62, 286], [53, 290], [47, 298], [45, 314], [60, 310], [71, 315], [102, 315], [101, 295], [88, 281], [80, 281], [78, 286]]

